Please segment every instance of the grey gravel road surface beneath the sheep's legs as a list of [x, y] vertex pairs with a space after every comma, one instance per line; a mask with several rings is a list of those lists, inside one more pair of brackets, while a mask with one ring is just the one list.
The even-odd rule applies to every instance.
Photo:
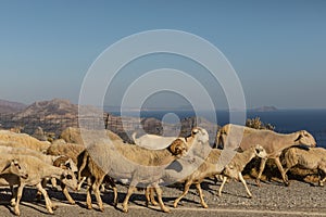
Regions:
[[[240, 182], [231, 181], [223, 190], [222, 197], [216, 196], [216, 186], [208, 180], [202, 183], [205, 201], [209, 208], [204, 209], [199, 203], [199, 197], [195, 188], [180, 201], [177, 208], [173, 208], [173, 201], [181, 193], [180, 188], [164, 187], [164, 202], [171, 207], [171, 214], [160, 212], [159, 207], [145, 207], [143, 192], [136, 192], [130, 197], [129, 213], [124, 214], [121, 210], [121, 202], [126, 192], [126, 187], [117, 186], [118, 208], [112, 207], [113, 196], [111, 191], [102, 195], [105, 204], [104, 213], [97, 210], [96, 203], [93, 210], [85, 207], [85, 190], [82, 192], [72, 192], [76, 205], [67, 204], [61, 192], [48, 190], [52, 201], [58, 204], [54, 210], [57, 216], [326, 216], [326, 188], [313, 187], [310, 183], [291, 181], [290, 187], [284, 187], [278, 182], [262, 183], [259, 188], [253, 180], [248, 180], [249, 189], [253, 199], [248, 199], [246, 190]], [[34, 201], [35, 189], [26, 188], [21, 204], [22, 216], [45, 216], [47, 209], [45, 202], [36, 203]], [[0, 191], [0, 216], [13, 216], [12, 207], [9, 205], [10, 192], [8, 189]], [[95, 202], [95, 201], [93, 201]]]

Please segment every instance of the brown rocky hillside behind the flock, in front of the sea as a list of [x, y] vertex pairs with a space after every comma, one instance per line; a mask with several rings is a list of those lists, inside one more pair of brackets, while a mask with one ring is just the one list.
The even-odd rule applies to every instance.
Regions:
[[[83, 106], [87, 111], [86, 116], [78, 119], [78, 105], [71, 103], [68, 100], [53, 99], [50, 101], [35, 102], [24, 110], [16, 112], [5, 119], [0, 119], [3, 128], [22, 127], [23, 132], [34, 135], [40, 128], [48, 133], [59, 136], [67, 127], [78, 127], [78, 122], [85, 122], [85, 127], [92, 129], [96, 119], [93, 114], [102, 114], [101, 111], [92, 106]], [[136, 117], [120, 117], [108, 113], [103, 114], [103, 122], [106, 129], [120, 135], [125, 141], [130, 141], [130, 135], [134, 131], [140, 133], [155, 133], [164, 136], [179, 136], [186, 137], [195, 126], [205, 128], [213, 142], [216, 133], [216, 125], [210, 123], [204, 118], [189, 117], [183, 119], [180, 123], [172, 125], [165, 124], [161, 120], [150, 118]]]

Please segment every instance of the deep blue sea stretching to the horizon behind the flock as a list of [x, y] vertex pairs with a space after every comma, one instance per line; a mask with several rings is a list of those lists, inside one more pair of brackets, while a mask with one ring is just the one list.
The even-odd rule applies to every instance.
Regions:
[[[113, 112], [120, 115], [117, 112]], [[140, 113], [128, 112], [128, 116], [154, 117], [163, 119], [166, 114], [174, 114], [179, 119], [193, 117], [193, 111], [141, 111]], [[212, 117], [215, 115], [215, 118]], [[208, 120], [216, 119], [217, 125], [223, 126], [230, 123], [228, 111], [216, 111], [215, 113], [200, 112]], [[326, 148], [326, 110], [277, 110], [269, 112], [248, 111], [247, 118], [260, 117], [265, 124], [275, 126], [275, 131], [289, 133], [298, 130], [308, 130], [314, 136], [317, 146]]]

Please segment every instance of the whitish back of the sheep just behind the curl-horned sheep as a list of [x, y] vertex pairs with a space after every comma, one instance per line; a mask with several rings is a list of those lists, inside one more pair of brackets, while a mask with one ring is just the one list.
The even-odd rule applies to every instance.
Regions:
[[177, 137], [162, 137], [158, 135], [143, 135], [139, 138], [136, 138], [136, 133], [133, 133], [133, 140], [135, 144], [150, 149], [150, 150], [162, 150], [168, 146]]

